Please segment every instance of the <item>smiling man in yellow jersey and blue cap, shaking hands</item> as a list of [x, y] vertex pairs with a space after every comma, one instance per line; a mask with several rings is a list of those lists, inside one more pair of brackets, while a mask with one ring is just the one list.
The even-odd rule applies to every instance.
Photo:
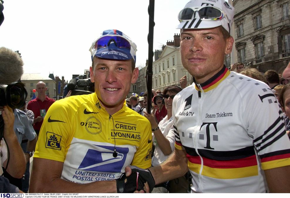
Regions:
[[106, 30], [90, 51], [95, 93], [50, 107], [34, 153], [29, 192], [133, 192], [136, 183], [120, 178], [125, 167], [151, 165], [151, 125], [125, 103], [139, 74], [135, 43], [121, 31]]

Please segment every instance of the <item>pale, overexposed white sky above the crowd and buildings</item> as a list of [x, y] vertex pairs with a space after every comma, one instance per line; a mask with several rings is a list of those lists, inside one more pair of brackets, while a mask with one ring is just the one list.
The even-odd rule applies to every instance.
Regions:
[[[154, 46], [173, 40], [177, 15], [189, 0], [155, 0]], [[137, 45], [136, 66], [148, 59], [149, 0], [4, 0], [0, 47], [19, 50], [24, 73], [65, 77], [89, 69], [89, 48], [102, 31], [117, 29]]]

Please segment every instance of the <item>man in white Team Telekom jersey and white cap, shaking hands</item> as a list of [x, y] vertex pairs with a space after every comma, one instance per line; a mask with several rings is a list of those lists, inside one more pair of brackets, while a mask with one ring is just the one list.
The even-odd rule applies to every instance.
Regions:
[[194, 83], [173, 100], [175, 150], [139, 172], [146, 192], [192, 175], [191, 192], [290, 192], [290, 142], [269, 86], [230, 72], [234, 8], [224, 0], [191, 0], [178, 15], [181, 60]]

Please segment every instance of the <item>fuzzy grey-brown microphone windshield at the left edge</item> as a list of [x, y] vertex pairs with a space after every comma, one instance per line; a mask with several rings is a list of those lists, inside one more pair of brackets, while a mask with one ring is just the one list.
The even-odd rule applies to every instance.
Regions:
[[5, 47], [0, 48], [0, 84], [11, 84], [21, 78], [23, 61], [20, 55]]

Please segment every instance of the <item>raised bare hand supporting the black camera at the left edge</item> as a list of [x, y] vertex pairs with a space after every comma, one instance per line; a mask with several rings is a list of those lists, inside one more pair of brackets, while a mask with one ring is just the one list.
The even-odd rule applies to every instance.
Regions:
[[4, 137], [9, 138], [14, 133], [14, 113], [9, 106], [3, 106], [2, 117], [4, 121]]

